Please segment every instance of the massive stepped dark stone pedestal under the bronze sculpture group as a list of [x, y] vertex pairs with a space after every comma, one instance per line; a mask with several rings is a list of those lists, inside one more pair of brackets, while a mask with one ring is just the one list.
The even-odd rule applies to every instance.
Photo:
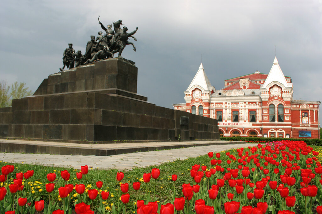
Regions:
[[33, 96], [0, 108], [0, 137], [68, 142], [219, 139], [217, 120], [159, 107], [137, 94], [137, 67], [120, 56], [128, 44], [126, 30], [115, 33], [118, 45], [109, 42], [108, 50], [119, 52], [118, 57], [95, 58], [51, 74]]

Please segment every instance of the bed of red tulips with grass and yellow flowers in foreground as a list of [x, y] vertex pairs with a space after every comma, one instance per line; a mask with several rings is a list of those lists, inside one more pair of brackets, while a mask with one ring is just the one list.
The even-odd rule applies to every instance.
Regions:
[[1, 162], [0, 213], [322, 213], [321, 147], [304, 141], [126, 172]]

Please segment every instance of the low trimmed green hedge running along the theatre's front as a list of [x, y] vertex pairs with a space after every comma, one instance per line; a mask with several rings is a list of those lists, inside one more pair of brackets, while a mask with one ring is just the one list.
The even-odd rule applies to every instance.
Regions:
[[322, 146], [322, 139], [317, 138], [277, 138], [277, 137], [220, 137], [223, 141], [251, 141], [251, 142], [271, 142], [271, 141], [304, 141], [307, 145]]

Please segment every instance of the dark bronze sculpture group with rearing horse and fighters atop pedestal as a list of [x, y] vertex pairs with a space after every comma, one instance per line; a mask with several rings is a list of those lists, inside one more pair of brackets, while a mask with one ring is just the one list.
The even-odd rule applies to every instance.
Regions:
[[63, 71], [65, 66], [67, 69], [71, 69], [82, 64], [112, 58], [117, 52], [118, 57], [122, 57], [121, 54], [126, 45], [132, 45], [133, 50], [136, 51], [135, 45], [128, 41], [128, 38], [132, 37], [134, 40], [137, 40], [133, 34], [137, 32], [138, 28], [128, 33], [127, 27], [124, 26], [123, 29], [120, 28], [122, 20], [113, 22], [114, 30], [111, 29], [112, 25], [110, 24], [107, 28], [100, 21], [99, 24], [106, 34], [103, 35], [103, 32], [99, 31], [96, 39], [95, 36], [90, 36], [91, 40], [87, 42], [85, 55], [82, 55], [80, 50], [75, 53], [73, 44], [69, 43], [69, 47], [66, 48], [63, 53], [63, 67], [59, 68], [60, 71]]

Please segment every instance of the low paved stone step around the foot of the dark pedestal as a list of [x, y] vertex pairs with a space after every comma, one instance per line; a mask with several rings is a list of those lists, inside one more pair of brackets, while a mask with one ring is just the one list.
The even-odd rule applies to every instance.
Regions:
[[171, 141], [79, 144], [67, 142], [23, 141], [0, 139], [0, 152], [55, 155], [110, 156], [134, 152], [180, 149], [195, 146], [243, 144], [244, 141]]

